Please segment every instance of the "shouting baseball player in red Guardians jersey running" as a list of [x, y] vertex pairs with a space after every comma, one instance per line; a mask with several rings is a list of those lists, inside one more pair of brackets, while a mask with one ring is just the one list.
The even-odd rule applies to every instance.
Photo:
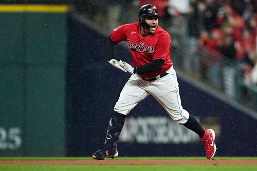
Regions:
[[[112, 31], [107, 40], [109, 63], [128, 72], [130, 79], [123, 87], [109, 120], [104, 147], [93, 153], [93, 159], [104, 160], [118, 156], [117, 142], [125, 117], [142, 100], [152, 95], [178, 124], [186, 126], [205, 145], [207, 159], [216, 152], [215, 133], [204, 129], [194, 116], [183, 109], [176, 72], [171, 61], [171, 36], [158, 26], [158, 11], [153, 5], [139, 9], [139, 22], [122, 25]], [[117, 43], [126, 41], [132, 54], [133, 66], [116, 60]]]

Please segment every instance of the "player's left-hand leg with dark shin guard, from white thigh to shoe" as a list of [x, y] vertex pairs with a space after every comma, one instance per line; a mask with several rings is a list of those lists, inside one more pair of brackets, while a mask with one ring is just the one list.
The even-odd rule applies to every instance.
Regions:
[[132, 75], [123, 87], [114, 110], [113, 119], [109, 121], [104, 147], [92, 154], [93, 159], [104, 160], [118, 156], [117, 142], [123, 127], [125, 116], [143, 99], [149, 96], [139, 81], [137, 75]]

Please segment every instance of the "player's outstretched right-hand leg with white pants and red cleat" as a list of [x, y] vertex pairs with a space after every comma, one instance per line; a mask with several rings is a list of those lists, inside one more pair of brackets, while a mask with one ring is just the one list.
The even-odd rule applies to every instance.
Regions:
[[[194, 116], [181, 106], [176, 72], [169, 69], [169, 74], [152, 83], [149, 88], [152, 96], [167, 111], [169, 116], [177, 123], [198, 134], [201, 142], [205, 145], [207, 159], [212, 159], [216, 153], [215, 132], [212, 129], [204, 129]], [[161, 91], [162, 90], [162, 91]], [[162, 92], [169, 93], [162, 93]]]

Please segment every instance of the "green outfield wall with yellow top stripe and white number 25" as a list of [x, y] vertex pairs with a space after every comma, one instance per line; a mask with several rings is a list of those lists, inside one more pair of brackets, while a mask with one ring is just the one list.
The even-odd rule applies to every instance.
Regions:
[[0, 5], [0, 156], [65, 156], [64, 5]]

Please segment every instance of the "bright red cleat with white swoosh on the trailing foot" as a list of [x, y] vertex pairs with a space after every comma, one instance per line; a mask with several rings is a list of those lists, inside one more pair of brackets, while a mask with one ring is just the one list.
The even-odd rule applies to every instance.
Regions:
[[205, 129], [205, 135], [200, 138], [201, 143], [205, 145], [207, 159], [212, 159], [216, 153], [215, 132], [213, 129]]

